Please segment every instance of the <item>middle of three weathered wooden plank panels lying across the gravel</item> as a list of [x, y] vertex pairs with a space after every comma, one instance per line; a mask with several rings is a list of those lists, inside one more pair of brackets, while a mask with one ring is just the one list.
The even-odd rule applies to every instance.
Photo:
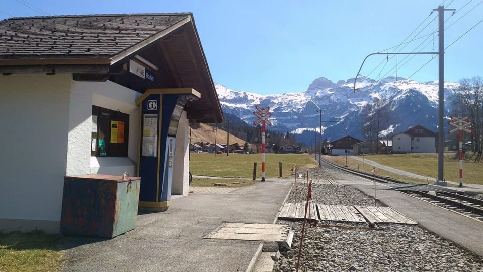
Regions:
[[353, 206], [317, 204], [316, 207], [320, 220], [366, 222], [364, 217]]

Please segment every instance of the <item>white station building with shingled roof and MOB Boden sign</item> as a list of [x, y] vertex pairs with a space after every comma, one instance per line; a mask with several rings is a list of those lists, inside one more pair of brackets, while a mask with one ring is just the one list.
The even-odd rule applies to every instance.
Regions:
[[[189, 192], [188, 123], [223, 119], [193, 14], [20, 17], [0, 33], [0, 172], [14, 177], [0, 230], [58, 233], [64, 176], [139, 175], [153, 205]], [[172, 183], [149, 191], [142, 160], [166, 154]]]

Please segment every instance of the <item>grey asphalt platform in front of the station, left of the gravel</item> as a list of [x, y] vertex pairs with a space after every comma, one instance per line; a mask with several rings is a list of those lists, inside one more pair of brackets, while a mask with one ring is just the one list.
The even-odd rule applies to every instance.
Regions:
[[203, 237], [224, 222], [273, 223], [292, 181], [190, 193], [165, 212], [141, 212], [136, 229], [112, 239], [64, 237], [63, 271], [245, 271], [260, 242]]

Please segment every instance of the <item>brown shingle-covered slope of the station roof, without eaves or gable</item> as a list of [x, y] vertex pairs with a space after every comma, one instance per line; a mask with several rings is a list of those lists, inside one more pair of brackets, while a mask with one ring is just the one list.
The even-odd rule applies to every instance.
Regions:
[[0, 21], [0, 58], [115, 56], [191, 13], [20, 17]]

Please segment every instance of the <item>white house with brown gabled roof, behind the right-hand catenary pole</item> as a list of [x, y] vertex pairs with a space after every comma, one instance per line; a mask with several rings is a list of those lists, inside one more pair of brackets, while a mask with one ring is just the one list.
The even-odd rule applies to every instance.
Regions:
[[416, 125], [392, 137], [393, 153], [436, 153], [436, 133]]

